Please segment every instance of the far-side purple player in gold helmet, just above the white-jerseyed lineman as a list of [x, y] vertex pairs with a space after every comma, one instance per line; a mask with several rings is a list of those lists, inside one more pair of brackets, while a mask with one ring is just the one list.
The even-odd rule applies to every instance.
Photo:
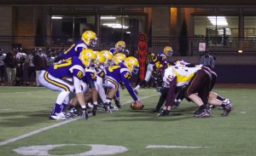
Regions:
[[148, 80], [152, 77], [152, 73], [154, 71], [154, 65], [156, 63], [159, 63], [159, 61], [166, 61], [167, 59], [167, 56], [172, 56], [172, 47], [170, 46], [166, 46], [164, 48], [164, 51], [161, 52], [159, 55], [157, 55], [153, 61], [150, 61], [148, 63], [148, 66], [147, 66], [147, 72], [146, 72], [146, 76], [145, 78], [143, 79], [143, 81], [140, 83], [140, 84], [137, 84], [137, 86], [134, 88], [134, 92], [136, 94], [138, 94], [138, 90], [141, 86], [143, 86], [144, 84], [147, 84]]

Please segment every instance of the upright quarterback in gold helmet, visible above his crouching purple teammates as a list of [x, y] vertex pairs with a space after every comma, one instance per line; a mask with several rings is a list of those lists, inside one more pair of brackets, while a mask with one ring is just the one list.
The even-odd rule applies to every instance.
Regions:
[[55, 57], [55, 62], [68, 59], [73, 56], [79, 56], [83, 49], [88, 49], [88, 47], [96, 46], [96, 33], [92, 31], [85, 31], [82, 34], [82, 38], [77, 43], [73, 43], [73, 45], [64, 52], [61, 52], [60, 55]]

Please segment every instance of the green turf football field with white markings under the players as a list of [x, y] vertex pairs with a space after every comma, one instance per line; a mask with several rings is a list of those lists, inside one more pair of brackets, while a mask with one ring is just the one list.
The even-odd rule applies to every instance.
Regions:
[[209, 118], [194, 118], [188, 101], [169, 116], [152, 113], [159, 95], [139, 90], [143, 110], [130, 108], [121, 90], [118, 112], [99, 112], [88, 120], [49, 120], [58, 92], [33, 87], [0, 87], [0, 156], [125, 155], [249, 156], [256, 154], [256, 89], [217, 88], [235, 109], [228, 117], [212, 109]]

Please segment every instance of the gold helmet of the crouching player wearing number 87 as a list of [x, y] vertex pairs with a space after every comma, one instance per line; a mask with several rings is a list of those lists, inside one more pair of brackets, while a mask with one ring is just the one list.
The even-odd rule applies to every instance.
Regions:
[[83, 49], [79, 55], [79, 59], [85, 67], [93, 66], [96, 63], [96, 52], [92, 49]]

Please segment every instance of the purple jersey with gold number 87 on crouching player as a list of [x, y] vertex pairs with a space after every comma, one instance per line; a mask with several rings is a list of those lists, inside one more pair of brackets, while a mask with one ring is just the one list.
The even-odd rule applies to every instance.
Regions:
[[45, 71], [49, 72], [55, 78], [83, 78], [85, 75], [84, 64], [75, 56], [66, 61], [61, 61], [60, 64], [49, 66]]

